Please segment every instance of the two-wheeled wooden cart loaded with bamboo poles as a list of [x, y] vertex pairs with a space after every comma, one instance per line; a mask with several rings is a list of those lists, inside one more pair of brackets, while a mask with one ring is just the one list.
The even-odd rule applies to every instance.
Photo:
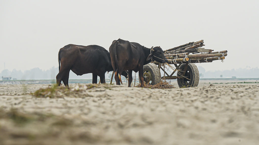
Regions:
[[[227, 56], [227, 51], [213, 52], [211, 49], [202, 48], [203, 40], [190, 42], [172, 49], [164, 51], [167, 64], [159, 62], [151, 62], [143, 67], [144, 81], [149, 84], [156, 84], [161, 79], [177, 79], [178, 86], [181, 87], [196, 87], [199, 84], [199, 70], [195, 63], [212, 62], [214, 60], [223, 60]], [[171, 65], [174, 65], [172, 67]], [[173, 69], [171, 74], [165, 70], [165, 66]], [[163, 71], [161, 77], [160, 69]], [[176, 73], [176, 76], [173, 76]]]

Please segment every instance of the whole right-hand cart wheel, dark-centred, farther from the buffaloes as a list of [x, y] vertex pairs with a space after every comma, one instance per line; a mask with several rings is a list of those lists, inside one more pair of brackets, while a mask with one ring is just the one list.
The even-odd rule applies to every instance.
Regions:
[[[186, 64], [182, 64], [179, 68], [183, 70], [185, 65]], [[182, 76], [182, 74], [183, 74], [182, 71], [178, 71], [177, 76]], [[188, 64], [188, 67], [185, 71], [184, 76], [185, 78], [177, 78], [177, 84], [179, 88], [198, 86], [200, 76], [199, 76], [199, 70], [195, 64], [193, 63]]]

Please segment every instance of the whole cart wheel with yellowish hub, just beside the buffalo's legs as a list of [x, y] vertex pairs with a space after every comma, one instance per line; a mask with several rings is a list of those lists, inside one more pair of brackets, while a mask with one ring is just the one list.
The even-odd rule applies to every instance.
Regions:
[[150, 85], [154, 85], [160, 83], [161, 76], [159, 74], [159, 68], [154, 63], [148, 63], [143, 66], [143, 78], [146, 84], [149, 83]]

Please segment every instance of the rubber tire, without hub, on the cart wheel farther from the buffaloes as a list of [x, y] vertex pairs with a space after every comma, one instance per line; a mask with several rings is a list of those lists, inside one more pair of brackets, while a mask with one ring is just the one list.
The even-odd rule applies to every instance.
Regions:
[[[183, 70], [185, 65], [186, 64], [182, 64], [179, 68], [181, 70]], [[199, 80], [200, 80], [199, 70], [198, 70], [197, 66], [193, 63], [189, 63], [188, 67], [187, 67], [187, 70], [189, 70], [189, 72], [190, 72], [190, 82], [189, 82], [188, 85], [183, 85], [183, 83], [182, 83], [183, 79], [177, 78], [177, 84], [178, 84], [179, 88], [182, 88], [182, 87], [197, 87], [198, 84], [199, 84]], [[177, 73], [177, 76], [181, 76], [181, 75], [179, 75]]]

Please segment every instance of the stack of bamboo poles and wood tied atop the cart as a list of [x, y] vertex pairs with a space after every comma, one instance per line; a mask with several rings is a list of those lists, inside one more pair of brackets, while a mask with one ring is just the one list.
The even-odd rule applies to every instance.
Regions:
[[[212, 62], [214, 60], [223, 60], [227, 56], [227, 51], [213, 52], [211, 49], [200, 48], [205, 46], [204, 41], [190, 42], [181, 46], [174, 47], [164, 51], [168, 62], [171, 64], [183, 63], [188, 61], [189, 63], [202, 63]], [[192, 53], [192, 54], [190, 54]]]

